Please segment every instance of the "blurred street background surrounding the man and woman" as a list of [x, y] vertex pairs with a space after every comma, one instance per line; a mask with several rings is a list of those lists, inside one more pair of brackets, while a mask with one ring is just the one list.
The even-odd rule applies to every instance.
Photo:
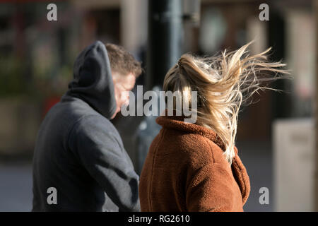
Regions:
[[[251, 181], [245, 211], [318, 210], [317, 1], [54, 1], [56, 21], [47, 20], [50, 3], [0, 1], [0, 211], [31, 210], [37, 129], [67, 90], [76, 55], [95, 40], [143, 62], [143, 92], [160, 88], [185, 52], [211, 55], [251, 40], [252, 53], [273, 47], [271, 60], [287, 63], [294, 79], [273, 83], [284, 92], [260, 93], [240, 113], [237, 148]], [[154, 119], [112, 121], [138, 173], [160, 130]], [[264, 187], [269, 203], [261, 204]]]

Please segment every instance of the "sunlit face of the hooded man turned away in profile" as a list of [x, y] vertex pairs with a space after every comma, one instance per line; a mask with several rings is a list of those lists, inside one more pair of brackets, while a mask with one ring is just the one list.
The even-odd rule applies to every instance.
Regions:
[[117, 72], [112, 72], [112, 81], [114, 83], [114, 95], [116, 99], [117, 109], [112, 119], [116, 116], [122, 105], [129, 105], [129, 91], [134, 88], [136, 77], [133, 73], [122, 75]]

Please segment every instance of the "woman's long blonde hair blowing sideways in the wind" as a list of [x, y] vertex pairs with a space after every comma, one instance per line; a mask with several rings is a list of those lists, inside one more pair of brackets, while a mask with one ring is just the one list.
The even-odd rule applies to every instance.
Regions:
[[288, 78], [284, 76], [288, 74], [283, 69], [285, 64], [267, 60], [266, 54], [271, 48], [251, 56], [247, 51], [251, 43], [234, 52], [225, 50], [216, 57], [184, 54], [167, 72], [163, 84], [164, 91], [181, 93], [189, 106], [191, 92], [197, 91], [196, 124], [212, 129], [221, 138], [226, 148], [225, 159], [230, 165], [235, 156], [240, 106], [251, 103], [252, 95], [259, 90], [276, 90], [266, 87], [266, 83]]

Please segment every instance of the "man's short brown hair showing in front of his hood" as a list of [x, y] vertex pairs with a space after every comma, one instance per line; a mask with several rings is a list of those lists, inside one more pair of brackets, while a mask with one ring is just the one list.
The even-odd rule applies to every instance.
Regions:
[[141, 74], [141, 63], [137, 61], [131, 53], [124, 49], [124, 47], [107, 43], [106, 49], [112, 71], [121, 73], [124, 76], [133, 73], [134, 76], [138, 77]]

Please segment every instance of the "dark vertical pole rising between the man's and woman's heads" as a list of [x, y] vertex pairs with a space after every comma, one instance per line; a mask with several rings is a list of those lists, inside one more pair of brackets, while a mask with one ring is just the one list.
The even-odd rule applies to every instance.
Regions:
[[182, 0], [148, 0], [146, 89], [163, 85], [165, 73], [182, 54]]

